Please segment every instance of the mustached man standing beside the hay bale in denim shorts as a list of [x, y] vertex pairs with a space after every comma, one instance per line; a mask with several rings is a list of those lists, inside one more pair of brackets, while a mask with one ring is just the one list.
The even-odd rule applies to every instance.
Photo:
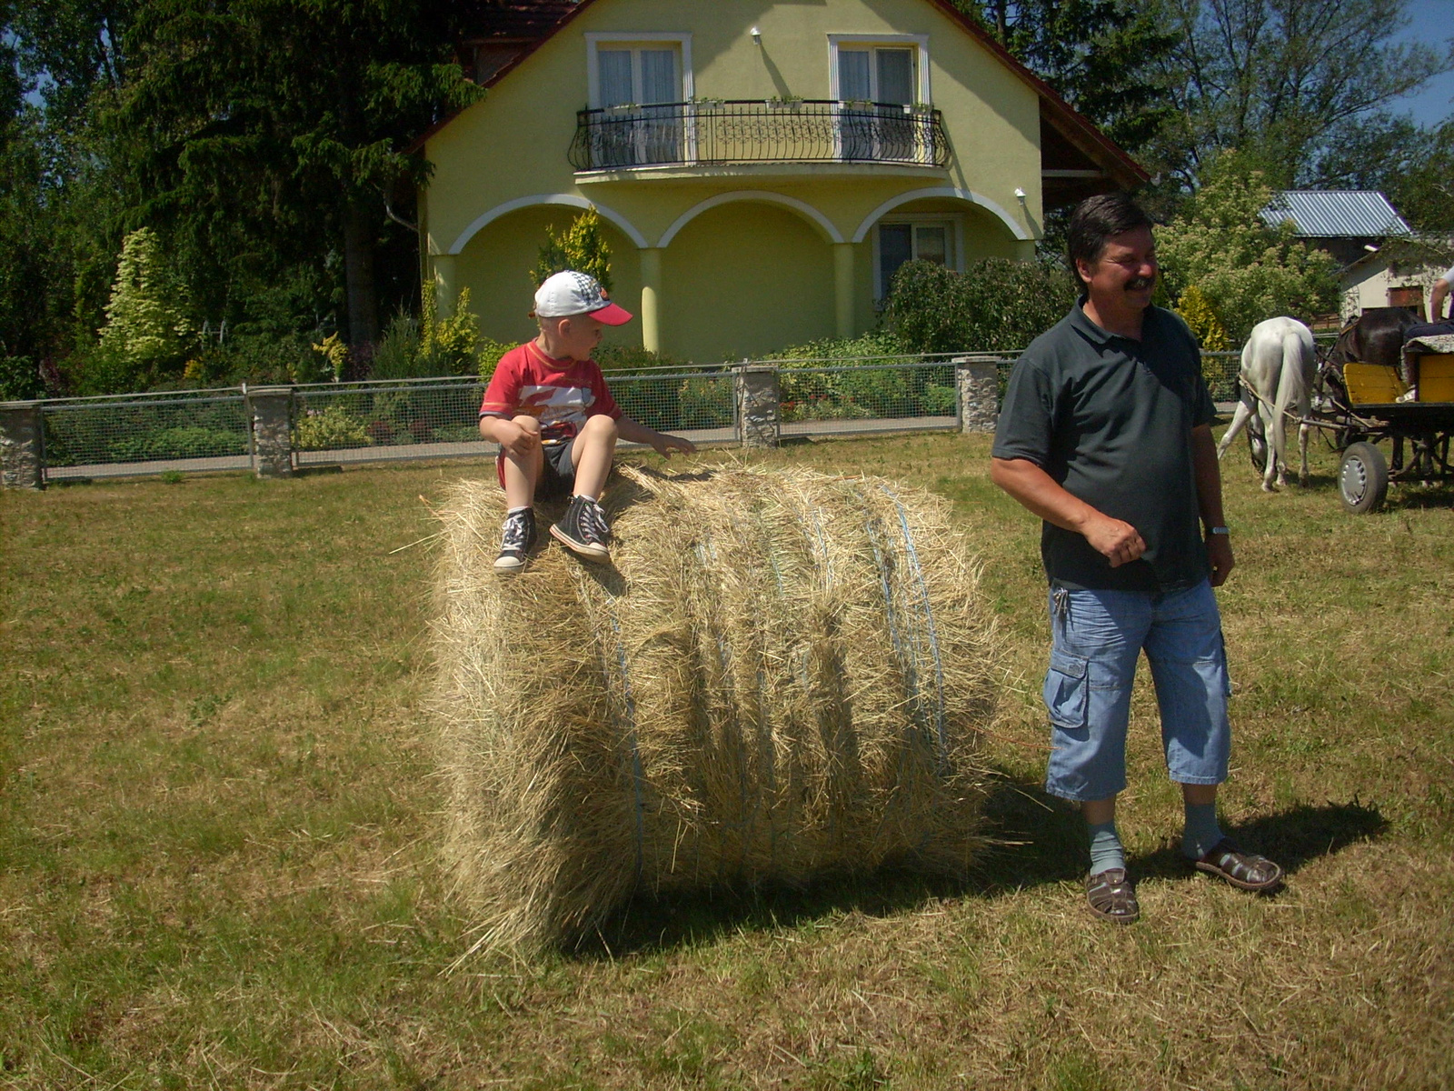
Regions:
[[1166, 768], [1182, 786], [1182, 852], [1245, 890], [1275, 887], [1282, 870], [1217, 826], [1230, 687], [1211, 589], [1233, 560], [1201, 352], [1181, 319], [1152, 305], [1156, 243], [1130, 196], [1082, 202], [1069, 250], [1085, 295], [1015, 365], [990, 476], [1044, 519], [1053, 630], [1045, 790], [1085, 813], [1092, 912], [1130, 924], [1140, 906], [1115, 831], [1115, 797], [1125, 788], [1131, 684], [1143, 649]]

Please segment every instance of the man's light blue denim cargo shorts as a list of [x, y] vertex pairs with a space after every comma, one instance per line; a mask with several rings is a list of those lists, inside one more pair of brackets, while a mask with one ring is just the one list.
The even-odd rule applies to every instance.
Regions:
[[1045, 791], [1083, 803], [1125, 788], [1125, 729], [1143, 649], [1156, 684], [1170, 778], [1179, 784], [1227, 778], [1232, 690], [1210, 583], [1160, 595], [1051, 586], [1050, 628]]

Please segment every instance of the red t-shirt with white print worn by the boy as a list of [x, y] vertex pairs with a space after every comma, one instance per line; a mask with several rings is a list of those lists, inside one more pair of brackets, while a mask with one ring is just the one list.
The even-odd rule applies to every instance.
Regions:
[[480, 416], [519, 413], [541, 422], [542, 439], [571, 439], [601, 413], [621, 419], [596, 361], [551, 359], [532, 340], [500, 356], [480, 403]]

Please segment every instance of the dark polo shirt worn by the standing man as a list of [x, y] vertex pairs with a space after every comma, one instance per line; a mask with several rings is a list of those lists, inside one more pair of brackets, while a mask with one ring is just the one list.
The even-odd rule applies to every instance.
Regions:
[[1140, 340], [1121, 337], [1090, 321], [1080, 303], [1015, 364], [993, 455], [1035, 463], [1146, 541], [1138, 560], [1112, 569], [1082, 535], [1044, 524], [1040, 554], [1057, 586], [1195, 586], [1210, 569], [1191, 429], [1216, 416], [1197, 339], [1160, 307], [1147, 308]]

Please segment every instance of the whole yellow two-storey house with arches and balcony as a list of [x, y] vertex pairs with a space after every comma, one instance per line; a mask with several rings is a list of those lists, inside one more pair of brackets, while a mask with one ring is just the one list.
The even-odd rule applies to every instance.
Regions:
[[904, 260], [1028, 259], [1047, 208], [1146, 177], [941, 0], [500, 10], [487, 96], [416, 147], [426, 276], [502, 340], [532, 335], [528, 271], [583, 208], [640, 316], [615, 336], [710, 362], [862, 333]]

